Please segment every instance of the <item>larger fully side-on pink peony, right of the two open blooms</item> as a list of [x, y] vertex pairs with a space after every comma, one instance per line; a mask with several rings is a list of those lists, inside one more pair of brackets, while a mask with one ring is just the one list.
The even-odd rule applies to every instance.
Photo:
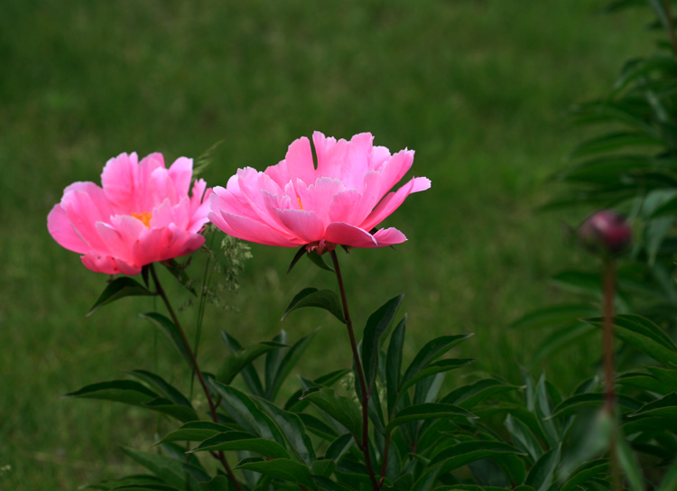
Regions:
[[[209, 220], [228, 235], [265, 245], [307, 245], [319, 254], [337, 245], [384, 247], [406, 236], [396, 228], [372, 229], [394, 212], [410, 193], [427, 190], [431, 181], [414, 178], [390, 191], [413, 163], [413, 151], [391, 155], [373, 146], [369, 133], [347, 142], [315, 132], [317, 154], [302, 137], [285, 159], [258, 172], [247, 167], [215, 188]], [[387, 194], [386, 194], [387, 193]]]

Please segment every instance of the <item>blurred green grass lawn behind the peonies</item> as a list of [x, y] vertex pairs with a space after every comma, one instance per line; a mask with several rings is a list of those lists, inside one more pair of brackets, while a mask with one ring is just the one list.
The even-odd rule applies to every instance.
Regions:
[[[280, 161], [313, 130], [370, 131], [391, 151], [413, 148], [413, 171], [432, 189], [385, 224], [407, 243], [343, 260], [353, 316], [359, 326], [405, 292], [406, 357], [433, 336], [475, 332], [459, 352], [516, 382], [540, 333], [507, 324], [561, 299], [548, 276], [585, 260], [562, 244], [565, 217], [533, 211], [555, 190], [545, 178], [581, 137], [562, 124], [564, 113], [603, 94], [623, 61], [653, 42], [642, 13], [601, 16], [603, 5], [5, 0], [0, 487], [74, 489], [134, 471], [116, 446], [147, 448], [153, 431], [172, 429], [134, 408], [59, 399], [134, 368], [186, 375], [135, 315], [153, 301], [120, 301], [84, 319], [107, 278], [46, 230], [63, 188], [98, 182], [122, 152], [160, 151], [172, 162], [223, 139], [204, 175], [216, 185], [238, 167]], [[346, 366], [347, 335], [324, 312], [279, 322], [295, 292], [333, 288], [331, 276], [310, 263], [285, 275], [292, 250], [252, 250], [241, 291], [226, 299], [239, 312], [208, 310], [203, 367], [215, 369], [225, 351], [219, 329], [252, 342], [282, 327], [298, 338], [318, 325], [300, 371]], [[191, 325], [196, 312], [181, 315]], [[579, 345], [548, 369], [569, 384], [593, 369], [594, 352]]]

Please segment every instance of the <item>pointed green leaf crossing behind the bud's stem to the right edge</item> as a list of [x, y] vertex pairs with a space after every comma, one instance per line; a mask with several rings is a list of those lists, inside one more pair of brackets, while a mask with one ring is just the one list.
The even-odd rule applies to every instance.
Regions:
[[[601, 327], [601, 318], [585, 319], [595, 326]], [[665, 365], [677, 366], [677, 347], [672, 339], [651, 320], [638, 315], [622, 314], [614, 319], [614, 333], [628, 345], [654, 357]]]

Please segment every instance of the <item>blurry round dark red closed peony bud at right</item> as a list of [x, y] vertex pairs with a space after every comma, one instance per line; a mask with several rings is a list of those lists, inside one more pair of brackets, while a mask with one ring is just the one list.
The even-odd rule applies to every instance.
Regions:
[[578, 236], [580, 243], [594, 253], [617, 255], [630, 245], [633, 232], [623, 215], [603, 209], [585, 219]]

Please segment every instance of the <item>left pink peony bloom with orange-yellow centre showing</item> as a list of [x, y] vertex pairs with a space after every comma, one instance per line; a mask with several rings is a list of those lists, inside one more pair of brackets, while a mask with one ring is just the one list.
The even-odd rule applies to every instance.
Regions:
[[81, 254], [97, 273], [137, 274], [141, 267], [187, 255], [205, 241], [209, 222], [203, 180], [189, 196], [193, 161], [181, 157], [169, 169], [161, 153], [138, 162], [136, 153], [110, 159], [94, 182], [74, 182], [51, 208], [47, 228], [54, 240]]

